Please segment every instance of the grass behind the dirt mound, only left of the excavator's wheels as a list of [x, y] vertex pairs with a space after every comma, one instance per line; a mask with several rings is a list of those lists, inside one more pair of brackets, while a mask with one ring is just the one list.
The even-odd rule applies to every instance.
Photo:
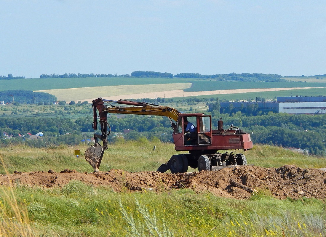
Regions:
[[[154, 145], [156, 145], [155, 152], [153, 151]], [[173, 146], [172, 143], [160, 141], [118, 142], [110, 145], [104, 153], [100, 170], [109, 171], [112, 168], [129, 172], [157, 170], [173, 154], [177, 154]], [[93, 172], [83, 155], [88, 147], [88, 145], [79, 145], [31, 148], [25, 145], [17, 145], [0, 148], [0, 156], [3, 156], [4, 164], [9, 173], [13, 173], [14, 170], [29, 172], [48, 171], [49, 169], [56, 172], [65, 169]], [[78, 159], [74, 155], [75, 149], [79, 149], [81, 152]], [[2, 167], [0, 167], [0, 173], [4, 173]]]

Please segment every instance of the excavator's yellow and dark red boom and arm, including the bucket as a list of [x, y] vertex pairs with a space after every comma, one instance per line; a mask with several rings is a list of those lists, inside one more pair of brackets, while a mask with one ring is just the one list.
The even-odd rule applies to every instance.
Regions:
[[[123, 104], [127, 106], [112, 106], [111, 103]], [[97, 115], [98, 111], [98, 115]], [[95, 144], [85, 151], [85, 159], [93, 167], [95, 172], [99, 171], [104, 151], [108, 149], [108, 136], [111, 128], [107, 121], [108, 113], [121, 114], [141, 114], [141, 115], [158, 115], [166, 116], [170, 119], [171, 127], [175, 127], [174, 121], [177, 121], [180, 112], [174, 108], [149, 104], [145, 102], [135, 102], [128, 100], [106, 100], [98, 98], [93, 100], [93, 128]], [[99, 121], [98, 121], [99, 120]], [[101, 134], [97, 134], [97, 124], [100, 124]], [[108, 127], [110, 128], [108, 131]], [[99, 144], [99, 140], [103, 145]]]

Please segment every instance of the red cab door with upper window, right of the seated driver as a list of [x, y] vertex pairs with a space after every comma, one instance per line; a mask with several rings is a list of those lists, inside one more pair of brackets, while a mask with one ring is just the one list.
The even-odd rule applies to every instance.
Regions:
[[198, 120], [198, 145], [212, 145], [211, 116], [199, 116]]

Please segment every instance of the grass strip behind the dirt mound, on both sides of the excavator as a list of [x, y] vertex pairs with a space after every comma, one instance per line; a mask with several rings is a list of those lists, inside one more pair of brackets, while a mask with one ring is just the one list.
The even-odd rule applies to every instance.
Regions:
[[[153, 151], [154, 145], [156, 151]], [[9, 173], [14, 170], [21, 172], [48, 171], [56, 172], [70, 169], [79, 172], [92, 172], [93, 169], [84, 159], [84, 152], [88, 145], [59, 146], [52, 148], [31, 148], [25, 145], [9, 146], [0, 148], [0, 156]], [[173, 143], [160, 141], [121, 141], [110, 144], [105, 151], [101, 163], [101, 171], [110, 169], [122, 169], [128, 172], [152, 171], [167, 162], [176, 152]], [[76, 158], [74, 150], [79, 149], [81, 156]], [[243, 153], [236, 151], [236, 153]], [[248, 163], [262, 167], [280, 167], [283, 165], [296, 165], [302, 168], [323, 168], [326, 167], [325, 157], [305, 156], [281, 147], [269, 145], [255, 145], [253, 149], [244, 153]], [[189, 171], [193, 171], [189, 167]], [[0, 168], [0, 173], [4, 173]]]

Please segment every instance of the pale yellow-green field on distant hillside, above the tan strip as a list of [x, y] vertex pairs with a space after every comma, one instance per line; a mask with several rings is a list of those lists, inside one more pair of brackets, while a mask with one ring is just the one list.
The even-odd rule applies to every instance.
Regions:
[[[106, 96], [128, 95], [133, 93], [146, 93], [157, 91], [183, 90], [189, 88], [191, 83], [169, 83], [169, 84], [145, 84], [145, 85], [121, 85], [121, 86], [95, 86], [70, 89], [39, 90], [54, 95], [58, 100], [77, 101], [88, 98]], [[91, 101], [89, 101], [91, 102]]]

